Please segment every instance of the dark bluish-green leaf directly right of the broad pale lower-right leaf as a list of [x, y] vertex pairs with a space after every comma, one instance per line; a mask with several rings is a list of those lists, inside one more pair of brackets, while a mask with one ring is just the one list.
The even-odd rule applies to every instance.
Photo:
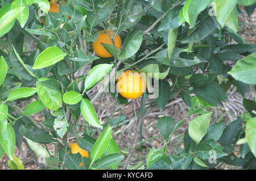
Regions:
[[218, 141], [220, 139], [224, 129], [226, 127], [226, 122], [215, 123], [209, 126], [208, 132], [203, 138], [203, 140], [214, 140]]

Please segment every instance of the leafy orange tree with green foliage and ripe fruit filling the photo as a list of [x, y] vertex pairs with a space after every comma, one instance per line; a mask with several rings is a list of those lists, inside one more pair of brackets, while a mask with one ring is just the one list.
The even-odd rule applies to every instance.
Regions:
[[[24, 142], [42, 169], [127, 169], [143, 120], [180, 97], [189, 112], [182, 120], [160, 117], [156, 127], [163, 144], [152, 147], [135, 169], [214, 169], [222, 163], [256, 169], [256, 104], [248, 97], [256, 85], [256, 47], [237, 33], [243, 26], [238, 14], [250, 17], [255, 2], [1, 1], [0, 158], [6, 154], [11, 169], [23, 169], [14, 150]], [[100, 121], [101, 106], [93, 106], [125, 70], [132, 78], [119, 78], [121, 94], [110, 94], [117, 104], [127, 104], [126, 98], [141, 101], [132, 118], [138, 119], [137, 133], [129, 151], [118, 148], [112, 133], [130, 120], [112, 113]], [[91, 94], [96, 85], [101, 91]], [[218, 119], [213, 112], [228, 102], [232, 85], [247, 113]], [[148, 102], [151, 86], [158, 96]], [[39, 111], [40, 122], [33, 118]], [[191, 120], [182, 135], [184, 149], [169, 154], [184, 120]]]

